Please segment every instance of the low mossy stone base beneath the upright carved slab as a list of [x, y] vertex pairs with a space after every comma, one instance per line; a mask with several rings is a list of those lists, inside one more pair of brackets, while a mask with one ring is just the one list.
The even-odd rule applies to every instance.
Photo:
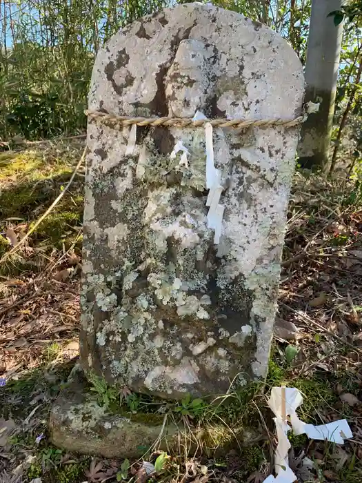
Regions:
[[83, 371], [76, 366], [52, 407], [50, 435], [52, 443], [66, 451], [108, 458], [137, 458], [150, 449], [225, 453], [240, 444], [252, 444], [258, 437], [250, 428], [234, 428], [232, 433], [223, 424], [185, 428], [183, 422], [177, 426], [171, 420], [171, 416], [166, 419], [149, 413], [114, 414], [99, 406], [97, 395], [90, 391]]

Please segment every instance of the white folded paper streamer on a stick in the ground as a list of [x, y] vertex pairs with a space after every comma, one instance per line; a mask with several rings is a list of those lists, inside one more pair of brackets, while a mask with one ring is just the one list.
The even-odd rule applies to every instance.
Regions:
[[[303, 404], [301, 392], [292, 387], [273, 387], [268, 406], [273, 411], [278, 445], [274, 455], [275, 473], [268, 476], [264, 483], [293, 483], [297, 480], [288, 463], [288, 451], [291, 448], [288, 431], [295, 435], [306, 434], [311, 440], [326, 440], [343, 444], [352, 437], [352, 431], [346, 420], [333, 421], [328, 424], [314, 426], [301, 421], [296, 414], [296, 408]], [[287, 417], [289, 416], [290, 425]]]

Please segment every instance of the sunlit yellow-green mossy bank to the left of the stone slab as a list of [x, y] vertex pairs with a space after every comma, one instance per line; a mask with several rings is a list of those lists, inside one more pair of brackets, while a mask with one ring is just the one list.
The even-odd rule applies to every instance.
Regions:
[[[30, 230], [66, 186], [81, 146], [59, 145], [55, 149], [29, 149], [0, 153], [0, 257], [10, 249], [8, 228], [17, 240]], [[19, 275], [39, 270], [39, 257], [54, 249], [68, 249], [74, 244], [81, 250], [83, 217], [83, 178], [80, 174], [59, 204], [37, 227], [22, 250], [0, 267], [0, 274]], [[39, 255], [40, 254], [40, 255]]]

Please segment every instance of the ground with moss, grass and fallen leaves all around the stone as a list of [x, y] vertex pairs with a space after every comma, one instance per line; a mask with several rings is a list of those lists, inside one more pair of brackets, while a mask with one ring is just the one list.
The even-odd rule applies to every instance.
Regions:
[[[62, 187], [66, 186], [81, 150], [82, 146], [63, 144], [0, 154], [0, 216], [3, 233], [0, 236], [0, 256], [10, 249], [6, 239], [8, 228], [19, 239], [36, 223], [59, 195]], [[317, 181], [317, 187], [310, 179], [301, 183], [300, 189], [303, 196], [308, 198], [307, 201], [296, 196], [299, 185], [294, 186], [290, 206], [292, 221], [285, 244], [285, 259], [299, 255], [307, 243], [305, 239], [318, 235], [321, 223], [325, 224], [325, 217], [330, 215], [328, 210], [327, 213], [321, 211], [320, 201], [315, 201], [323, 189], [325, 197], [329, 193], [328, 186], [323, 188], [325, 181]], [[330, 197], [333, 203], [339, 205], [348, 198], [343, 193], [338, 196], [332, 193]], [[54, 281], [54, 276], [63, 268], [73, 270], [74, 263], [77, 267], [74, 259], [80, 260], [82, 210], [83, 177], [80, 175], [52, 213], [37, 227], [29, 243], [0, 267], [1, 280], [12, 282], [15, 279], [14, 286], [0, 283], [4, 306], [7, 308], [1, 319], [4, 332], [0, 333], [0, 343], [5, 355], [5, 366], [0, 361], [0, 375], [8, 378], [6, 386], [0, 387], [0, 417], [4, 420], [11, 418], [16, 424], [6, 448], [12, 459], [9, 463], [0, 458], [0, 474], [3, 469], [11, 471], [14, 466], [22, 463], [26, 453], [31, 458], [23, 468], [24, 482], [40, 477], [42, 483], [81, 483], [87, 480], [86, 470], [90, 466], [89, 458], [57, 451], [50, 443], [47, 428], [52, 401], [66, 384], [74, 364], [74, 350], [68, 350], [68, 345], [72, 344], [70, 340], [77, 338], [79, 331], [79, 272], [74, 270], [74, 277], [65, 281]], [[288, 343], [279, 339], [274, 342], [265, 384], [250, 384], [242, 390], [230, 388], [228, 395], [221, 395], [211, 403], [208, 400], [196, 406], [192, 406], [192, 401], [170, 404], [133, 394], [123, 400], [122, 407], [119, 402], [112, 402], [114, 411], [123, 411], [135, 420], [145, 422], [154, 417], [159, 422], [163, 418], [163, 411], [166, 411], [174, 421], [185, 423], [191, 432], [199, 426], [223, 426], [225, 433], [219, 434], [219, 440], [215, 436], [199, 451], [199, 461], [212, 472], [210, 481], [215, 482], [225, 482], [225, 478], [244, 482], [253, 473], [268, 475], [272, 472], [274, 424], [266, 403], [272, 386], [285, 383], [299, 388], [304, 397], [304, 404], [299, 411], [303, 421], [322, 424], [347, 417], [352, 431], [357, 433], [361, 405], [349, 406], [341, 402], [340, 394], [352, 393], [362, 400], [359, 349], [348, 346], [353, 342], [353, 337], [360, 333], [361, 319], [356, 320], [354, 317], [354, 322], [351, 322], [350, 314], [353, 315], [353, 312], [350, 300], [355, 308], [362, 306], [360, 285], [356, 282], [361, 280], [361, 273], [358, 271], [359, 266], [351, 268], [341, 265], [341, 260], [345, 250], [348, 250], [348, 244], [352, 244], [354, 250], [361, 249], [360, 208], [352, 206], [348, 216], [339, 219], [338, 223], [338, 226], [333, 226], [334, 231], [318, 235], [321, 238], [319, 246], [323, 257], [298, 261], [294, 265], [285, 264], [279, 315], [293, 321], [301, 329], [299, 340], [292, 342], [300, 349], [292, 362], [287, 362], [285, 357]], [[336, 238], [338, 243], [334, 242]], [[339, 259], [327, 259], [328, 246], [333, 246], [334, 255], [336, 250], [340, 250]], [[325, 265], [327, 260], [328, 266]], [[52, 273], [43, 273], [47, 266], [56, 268]], [[39, 286], [41, 290], [38, 293], [36, 290]], [[333, 295], [333, 287], [338, 297]], [[315, 297], [315, 293], [321, 291], [332, 295], [323, 306], [311, 308], [308, 303]], [[14, 303], [18, 305], [8, 309]], [[329, 324], [328, 331], [335, 331], [339, 339], [334, 339], [312, 324], [304, 324], [304, 319], [293, 311], [306, 313], [322, 326], [327, 324], [325, 320], [332, 319], [334, 325]], [[343, 337], [345, 344], [341, 340]], [[356, 340], [359, 340], [358, 337]], [[21, 345], [20, 342], [28, 345]], [[252, 427], [259, 437], [244, 448], [242, 441], [237, 442], [236, 438], [241, 434], [241, 429], [248, 427]], [[220, 455], [216, 450], [221, 440], [225, 439], [225, 434], [232, 444]], [[37, 442], [39, 435], [43, 435], [43, 438]], [[338, 460], [335, 445], [310, 442], [304, 435], [296, 437], [290, 434], [290, 441], [296, 458], [304, 451], [305, 455], [316, 461], [319, 481], [360, 483], [362, 451], [358, 444], [348, 442], [343, 446], [347, 459], [341, 465], [338, 464], [341, 460]], [[181, 453], [172, 455], [168, 471], [163, 473], [160, 481], [177, 480], [177, 475], [185, 472], [186, 462]], [[112, 468], [110, 462], [103, 461], [103, 464], [105, 469]], [[137, 464], [134, 467], [137, 469]], [[297, 468], [297, 474], [298, 471]], [[109, 481], [115, 481], [115, 477]]]

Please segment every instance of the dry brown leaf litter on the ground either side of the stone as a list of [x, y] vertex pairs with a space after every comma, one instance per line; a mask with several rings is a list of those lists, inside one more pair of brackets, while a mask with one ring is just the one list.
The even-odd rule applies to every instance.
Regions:
[[[74, 159], [78, 155], [79, 150], [74, 152]], [[322, 375], [325, 380], [332, 381], [343, 375], [342, 381], [339, 378], [335, 386], [331, 382], [336, 402], [328, 404], [322, 401], [321, 408], [310, 416], [317, 419], [318, 424], [347, 417], [354, 440], [345, 444], [343, 453], [331, 451], [325, 442], [310, 442], [292, 449], [290, 459], [294, 459], [295, 473], [301, 482], [321, 474], [327, 482], [338, 481], [341, 472], [351, 466], [354, 455], [362, 458], [362, 375], [361, 353], [358, 350], [362, 347], [362, 210], [354, 206], [341, 209], [343, 189], [337, 193], [338, 189], [336, 184], [330, 186], [328, 181], [316, 175], [310, 179], [296, 175], [285, 239], [275, 347], [281, 364], [288, 359], [288, 377], [295, 380], [302, 376], [313, 380], [316, 375]], [[331, 190], [335, 193], [331, 194]], [[332, 195], [336, 199], [334, 204], [330, 201]], [[10, 235], [7, 237], [9, 248], [28, 229], [23, 219], [13, 218], [6, 221], [5, 226]], [[25, 260], [39, 257], [38, 270], [32, 273], [28, 270], [25, 276], [9, 273], [0, 278], [3, 294], [0, 301], [0, 348], [3, 356], [0, 375], [6, 380], [20, 381], [29, 370], [43, 366], [47, 359], [50, 367], [46, 369], [44, 378], [47, 384], [56, 384], [57, 376], [52, 371], [51, 361], [56, 364], [67, 362], [76, 357], [79, 350], [81, 256], [74, 248], [69, 251], [57, 248], [52, 250], [50, 257], [44, 257], [43, 248], [37, 251], [38, 248], [41, 247], [37, 246], [34, 233], [20, 254]], [[288, 344], [291, 348], [285, 352]], [[2, 389], [0, 387], [0, 391]], [[124, 388], [125, 397], [128, 391]], [[35, 446], [46, 444], [47, 433], [39, 444], [35, 438], [46, 431], [41, 421], [46, 421], [46, 411], [55, 395], [50, 395], [44, 387], [34, 389], [29, 399], [32, 405], [28, 407], [31, 409], [24, 416], [26, 419], [31, 415], [28, 426], [14, 428], [15, 433], [34, 431], [34, 449], [27, 450], [30, 451], [30, 459], [26, 460], [29, 462], [21, 466], [24, 463], [17, 456], [0, 451], [0, 471], [16, 466], [19, 466], [19, 471], [24, 471], [30, 464], [32, 453], [36, 454]], [[21, 396], [9, 397], [9, 401], [15, 404], [22, 402]], [[33, 406], [37, 410], [31, 414]], [[266, 424], [270, 424], [268, 413], [265, 414]], [[11, 420], [11, 417], [4, 418], [5, 422]], [[11, 426], [11, 423], [4, 424]], [[9, 459], [1, 458], [1, 454], [8, 455]], [[72, 458], [78, 459], [75, 455]], [[269, 459], [271, 462], [271, 457]], [[180, 462], [179, 457], [174, 456], [165, 464], [170, 469], [174, 465], [179, 468], [179, 476], [170, 476], [175, 483], [177, 478], [178, 483], [230, 483], [235, 481], [233, 477], [237, 474], [234, 466], [229, 466], [230, 461], [227, 458], [226, 466], [222, 467], [214, 464], [212, 457], [183, 459]], [[270, 462], [252, 471], [245, 481], [258, 483], [265, 480], [272, 473]], [[101, 482], [113, 478], [112, 481], [115, 481], [117, 473], [122, 471], [121, 464], [106, 459], [92, 460], [83, 479]], [[242, 459], [239, 464], [243, 466]], [[151, 468], [154, 468], [154, 461], [130, 462], [129, 477], [134, 477], [136, 483], [157, 480], [156, 473], [150, 473]], [[357, 470], [354, 471], [356, 473]], [[354, 483], [354, 480], [351, 482]]]

